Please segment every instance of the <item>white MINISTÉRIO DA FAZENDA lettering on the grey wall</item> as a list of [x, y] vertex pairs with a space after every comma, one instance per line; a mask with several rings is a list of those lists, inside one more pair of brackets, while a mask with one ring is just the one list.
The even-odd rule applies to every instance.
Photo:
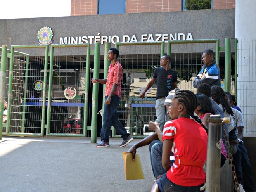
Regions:
[[[121, 40], [121, 41], [120, 41]], [[79, 37], [60, 37], [59, 44], [83, 44], [83, 43], [117, 43], [117, 42], [155, 42], [155, 41], [168, 41], [168, 40], [193, 40], [192, 34], [187, 33], [164, 33], [164, 34], [142, 34], [140, 37], [136, 35], [123, 35], [122, 38], [119, 36], [79, 36]]]

